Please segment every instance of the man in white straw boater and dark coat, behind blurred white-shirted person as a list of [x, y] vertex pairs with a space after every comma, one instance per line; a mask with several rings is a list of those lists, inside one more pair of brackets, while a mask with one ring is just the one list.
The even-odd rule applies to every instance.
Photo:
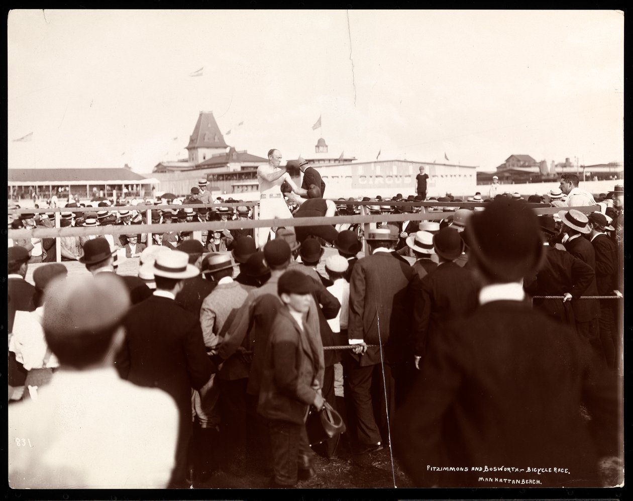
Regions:
[[176, 466], [171, 487], [188, 488], [187, 447], [192, 434], [191, 390], [209, 381], [213, 367], [204, 348], [198, 315], [175, 302], [182, 281], [199, 274], [189, 255], [171, 251], [156, 256], [153, 296], [130, 308], [125, 345], [118, 357], [124, 379], [169, 393], [180, 412]]

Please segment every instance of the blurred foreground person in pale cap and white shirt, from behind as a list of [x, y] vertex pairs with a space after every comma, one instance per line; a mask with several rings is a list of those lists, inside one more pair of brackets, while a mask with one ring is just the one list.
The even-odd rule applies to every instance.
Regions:
[[115, 371], [130, 305], [125, 286], [111, 274], [58, 277], [45, 296], [42, 326], [60, 369], [37, 400], [9, 408], [9, 485], [165, 488], [178, 411], [165, 391]]

